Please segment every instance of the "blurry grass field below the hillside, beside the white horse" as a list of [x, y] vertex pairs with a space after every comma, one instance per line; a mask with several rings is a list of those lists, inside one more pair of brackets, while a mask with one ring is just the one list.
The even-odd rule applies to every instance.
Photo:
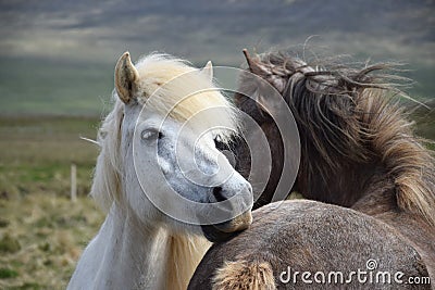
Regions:
[[[434, 111], [415, 119], [418, 133], [434, 140]], [[98, 149], [79, 139], [95, 138], [98, 125], [89, 117], [0, 118], [0, 289], [65, 288], [103, 218], [87, 197]]]

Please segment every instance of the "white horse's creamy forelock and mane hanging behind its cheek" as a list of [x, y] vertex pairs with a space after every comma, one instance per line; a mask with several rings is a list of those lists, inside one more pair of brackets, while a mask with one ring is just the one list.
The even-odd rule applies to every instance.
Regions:
[[[235, 108], [215, 89], [209, 77], [189, 66], [188, 62], [165, 54], [151, 54], [139, 60], [135, 66], [140, 77], [139, 91], [145, 92], [138, 96], [139, 104], [161, 114], [170, 112], [169, 116], [179, 122], [187, 121], [202, 110], [221, 108], [219, 111], [209, 110], [207, 117], [195, 118], [195, 122], [203, 128], [228, 128], [215, 130], [224, 142], [229, 141], [232, 134], [238, 131]], [[105, 211], [123, 196], [120, 186], [120, 174], [123, 172], [120, 143], [124, 104], [115, 90], [112, 97], [113, 110], [99, 130], [98, 143], [101, 150], [90, 191], [91, 197]]]

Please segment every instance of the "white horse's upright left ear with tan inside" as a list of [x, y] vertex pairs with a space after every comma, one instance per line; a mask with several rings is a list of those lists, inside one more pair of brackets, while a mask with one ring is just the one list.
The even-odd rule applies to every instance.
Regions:
[[139, 73], [133, 65], [128, 51], [120, 58], [115, 67], [115, 89], [121, 101], [129, 103], [138, 87]]

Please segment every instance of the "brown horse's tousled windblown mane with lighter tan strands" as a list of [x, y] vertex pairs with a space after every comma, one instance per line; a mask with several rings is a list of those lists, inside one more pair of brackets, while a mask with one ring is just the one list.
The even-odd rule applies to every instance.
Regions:
[[256, 58], [245, 53], [251, 73], [272, 84], [295, 116], [302, 187], [310, 191], [315, 179], [327, 185], [337, 174], [361, 164], [373, 174], [369, 166], [373, 165], [390, 180], [399, 210], [435, 225], [435, 161], [423, 146], [425, 140], [414, 136], [397, 98], [399, 77], [385, 73], [395, 64], [358, 68], [333, 59], [306, 63], [283, 52]]

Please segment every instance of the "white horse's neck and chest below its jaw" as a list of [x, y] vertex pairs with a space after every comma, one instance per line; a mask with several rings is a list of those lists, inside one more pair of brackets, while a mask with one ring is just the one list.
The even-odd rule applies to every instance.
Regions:
[[[112, 206], [85, 250], [69, 289], [186, 289], [209, 244], [146, 227]], [[189, 256], [194, 255], [194, 256]]]

